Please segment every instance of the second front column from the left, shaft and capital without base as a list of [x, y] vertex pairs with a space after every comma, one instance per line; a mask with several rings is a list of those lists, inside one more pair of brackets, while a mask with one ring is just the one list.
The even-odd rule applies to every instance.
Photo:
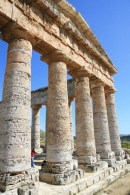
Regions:
[[[49, 60], [50, 61], [47, 61]], [[47, 102], [47, 161], [71, 161], [70, 120], [66, 80], [66, 58], [55, 51], [46, 57], [49, 64]]]

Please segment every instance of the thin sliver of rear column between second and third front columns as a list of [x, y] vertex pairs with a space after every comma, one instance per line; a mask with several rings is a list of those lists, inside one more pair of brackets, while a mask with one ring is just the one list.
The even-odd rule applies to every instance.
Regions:
[[70, 139], [71, 139], [71, 152], [74, 152], [74, 137], [73, 137], [73, 126], [72, 126], [72, 106], [71, 102], [73, 98], [69, 98], [69, 119], [70, 119]]

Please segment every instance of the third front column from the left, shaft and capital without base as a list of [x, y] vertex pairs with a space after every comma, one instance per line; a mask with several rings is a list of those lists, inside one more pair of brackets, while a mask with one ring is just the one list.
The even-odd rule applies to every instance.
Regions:
[[89, 74], [83, 68], [70, 72], [70, 74], [75, 78], [76, 154], [78, 163], [92, 165], [97, 160]]

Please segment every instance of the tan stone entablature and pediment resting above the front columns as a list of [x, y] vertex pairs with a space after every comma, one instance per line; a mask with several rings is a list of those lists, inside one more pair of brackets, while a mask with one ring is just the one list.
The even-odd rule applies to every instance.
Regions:
[[[44, 15], [43, 10], [46, 10]], [[31, 1], [23, 3], [16, 0], [13, 4], [9, 0], [1, 0], [0, 12], [2, 33], [5, 24], [12, 20], [11, 24], [6, 25], [7, 32], [13, 30], [24, 39], [30, 37], [34, 50], [46, 55], [60, 48], [70, 59], [67, 64], [69, 68], [80, 68], [87, 64], [94, 76], [113, 86], [111, 73], [116, 73], [116, 68], [81, 14], [77, 14], [69, 3], [64, 0], [40, 0], [32, 4]], [[5, 35], [2, 36], [8, 41]]]

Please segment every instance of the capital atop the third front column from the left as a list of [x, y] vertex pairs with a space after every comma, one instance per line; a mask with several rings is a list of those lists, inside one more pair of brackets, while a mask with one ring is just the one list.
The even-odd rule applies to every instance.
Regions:
[[91, 73], [90, 71], [86, 68], [86, 66], [82, 66], [79, 69], [72, 69], [68, 71], [68, 74], [71, 75], [73, 78], [79, 78], [79, 77], [90, 77]]

